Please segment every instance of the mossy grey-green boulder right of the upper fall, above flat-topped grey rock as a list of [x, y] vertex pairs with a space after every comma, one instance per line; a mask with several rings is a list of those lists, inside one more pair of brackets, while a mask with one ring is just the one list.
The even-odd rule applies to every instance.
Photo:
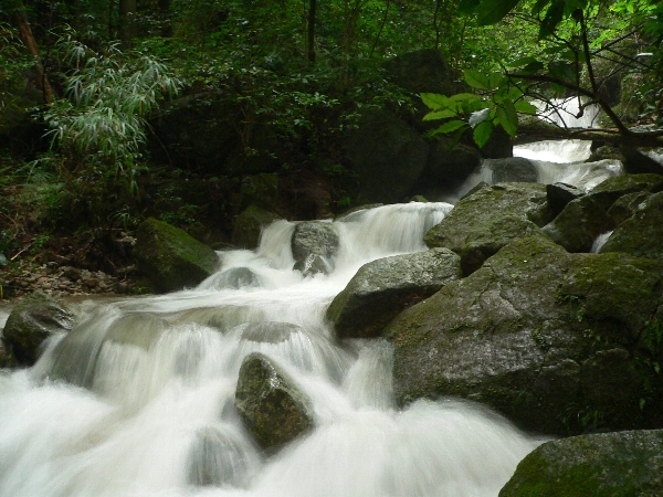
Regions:
[[424, 236], [425, 244], [446, 247], [461, 256], [465, 274], [514, 240], [540, 234], [550, 220], [546, 187], [498, 183], [463, 198]]

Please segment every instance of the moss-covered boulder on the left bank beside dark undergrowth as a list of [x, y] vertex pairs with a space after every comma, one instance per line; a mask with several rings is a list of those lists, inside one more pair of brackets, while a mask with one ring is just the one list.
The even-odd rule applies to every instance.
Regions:
[[198, 285], [219, 268], [219, 256], [185, 231], [154, 218], [136, 231], [138, 268], [160, 293]]

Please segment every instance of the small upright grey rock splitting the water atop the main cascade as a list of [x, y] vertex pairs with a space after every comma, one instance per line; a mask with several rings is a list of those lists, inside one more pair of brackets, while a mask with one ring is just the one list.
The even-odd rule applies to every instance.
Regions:
[[294, 268], [304, 275], [328, 273], [330, 258], [338, 252], [338, 232], [332, 223], [298, 223], [291, 241]]

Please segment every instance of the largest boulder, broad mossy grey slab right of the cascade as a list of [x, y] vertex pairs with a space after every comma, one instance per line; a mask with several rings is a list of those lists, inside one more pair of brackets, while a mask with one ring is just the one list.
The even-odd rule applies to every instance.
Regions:
[[513, 242], [389, 324], [397, 401], [461, 396], [555, 434], [663, 426], [662, 293], [657, 261]]

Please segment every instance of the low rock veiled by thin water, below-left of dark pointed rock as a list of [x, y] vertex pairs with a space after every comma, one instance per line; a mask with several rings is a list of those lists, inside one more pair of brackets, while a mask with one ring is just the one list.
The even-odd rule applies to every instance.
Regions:
[[251, 474], [251, 459], [239, 441], [208, 426], [196, 433], [189, 451], [188, 480], [197, 486], [245, 487]]

